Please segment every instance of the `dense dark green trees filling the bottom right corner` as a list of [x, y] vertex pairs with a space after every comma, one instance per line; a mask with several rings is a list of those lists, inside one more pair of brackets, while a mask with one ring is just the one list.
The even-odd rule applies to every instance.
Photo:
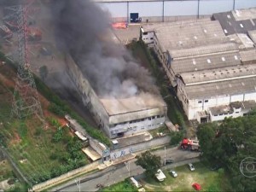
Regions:
[[[212, 165], [223, 166], [230, 174], [236, 191], [256, 191], [256, 113], [236, 119], [224, 119], [221, 124], [208, 123], [199, 126], [197, 133], [202, 158]], [[241, 163], [247, 157], [254, 158], [245, 175], [248, 163]], [[254, 177], [253, 177], [254, 176]]]

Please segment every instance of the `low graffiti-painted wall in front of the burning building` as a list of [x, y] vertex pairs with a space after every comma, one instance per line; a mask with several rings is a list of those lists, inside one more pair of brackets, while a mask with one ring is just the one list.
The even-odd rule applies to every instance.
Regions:
[[137, 151], [142, 151], [142, 150], [145, 150], [148, 148], [154, 148], [157, 146], [166, 145], [167, 143], [170, 143], [169, 136], [155, 138], [148, 142], [137, 143], [135, 145], [127, 146], [125, 148], [118, 148], [118, 149], [112, 150], [110, 152], [110, 159], [115, 160], [116, 158], [122, 157], [125, 154], [131, 154], [131, 153], [135, 153]]

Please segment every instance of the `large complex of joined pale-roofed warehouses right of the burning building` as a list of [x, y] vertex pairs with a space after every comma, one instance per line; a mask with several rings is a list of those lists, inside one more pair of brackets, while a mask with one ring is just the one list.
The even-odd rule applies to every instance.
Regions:
[[241, 9], [141, 27], [189, 120], [238, 117], [256, 106], [255, 19], [256, 9]]

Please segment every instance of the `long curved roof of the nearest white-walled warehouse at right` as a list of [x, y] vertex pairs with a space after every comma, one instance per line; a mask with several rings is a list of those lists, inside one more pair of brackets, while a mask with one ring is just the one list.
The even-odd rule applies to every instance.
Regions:
[[[220, 81], [230, 81], [232, 79], [246, 79], [256, 77], [256, 65], [246, 65], [237, 67], [222, 67], [211, 70], [197, 71], [194, 73], [180, 74], [184, 84], [208, 84]], [[229, 82], [226, 82], [229, 84]]]

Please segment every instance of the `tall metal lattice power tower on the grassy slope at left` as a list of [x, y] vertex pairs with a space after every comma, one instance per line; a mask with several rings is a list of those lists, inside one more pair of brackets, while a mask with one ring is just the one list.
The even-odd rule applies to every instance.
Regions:
[[15, 84], [12, 116], [20, 119], [36, 114], [44, 122], [44, 113], [38, 98], [38, 90], [33, 79], [27, 48], [27, 7], [15, 6], [18, 35], [18, 72]]

